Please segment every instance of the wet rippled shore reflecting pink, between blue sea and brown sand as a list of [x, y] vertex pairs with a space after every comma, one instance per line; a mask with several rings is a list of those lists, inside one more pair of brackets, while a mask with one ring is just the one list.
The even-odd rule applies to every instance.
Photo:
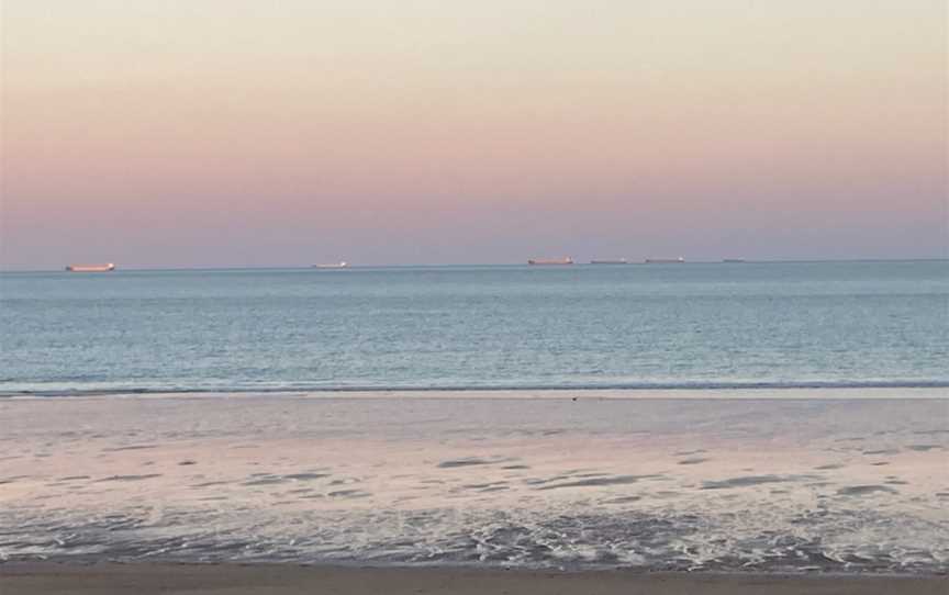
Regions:
[[5, 400], [0, 557], [949, 570], [949, 401], [844, 392]]

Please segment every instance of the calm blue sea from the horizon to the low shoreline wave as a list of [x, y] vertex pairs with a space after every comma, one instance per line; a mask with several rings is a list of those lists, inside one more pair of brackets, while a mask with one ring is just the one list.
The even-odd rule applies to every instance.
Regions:
[[0, 276], [0, 393], [949, 385], [949, 262]]

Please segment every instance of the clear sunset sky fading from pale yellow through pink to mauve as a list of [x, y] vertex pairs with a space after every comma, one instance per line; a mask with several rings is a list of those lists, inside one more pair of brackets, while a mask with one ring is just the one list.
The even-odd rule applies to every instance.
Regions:
[[0, 268], [949, 256], [944, 0], [2, 0]]

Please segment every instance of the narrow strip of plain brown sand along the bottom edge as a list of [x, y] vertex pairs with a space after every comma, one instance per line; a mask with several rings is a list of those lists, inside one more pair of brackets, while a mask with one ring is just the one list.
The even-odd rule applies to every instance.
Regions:
[[451, 568], [366, 569], [278, 564], [93, 564], [9, 563], [0, 565], [0, 593], [136, 593], [227, 595], [297, 593], [479, 594], [558, 593], [708, 595], [891, 594], [945, 595], [946, 576], [828, 576], [727, 573], [551, 572]]

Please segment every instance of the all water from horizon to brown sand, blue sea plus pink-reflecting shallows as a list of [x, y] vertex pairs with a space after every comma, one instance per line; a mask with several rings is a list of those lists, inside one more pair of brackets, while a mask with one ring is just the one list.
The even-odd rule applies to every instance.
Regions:
[[949, 572], [949, 262], [0, 276], [0, 562]]

